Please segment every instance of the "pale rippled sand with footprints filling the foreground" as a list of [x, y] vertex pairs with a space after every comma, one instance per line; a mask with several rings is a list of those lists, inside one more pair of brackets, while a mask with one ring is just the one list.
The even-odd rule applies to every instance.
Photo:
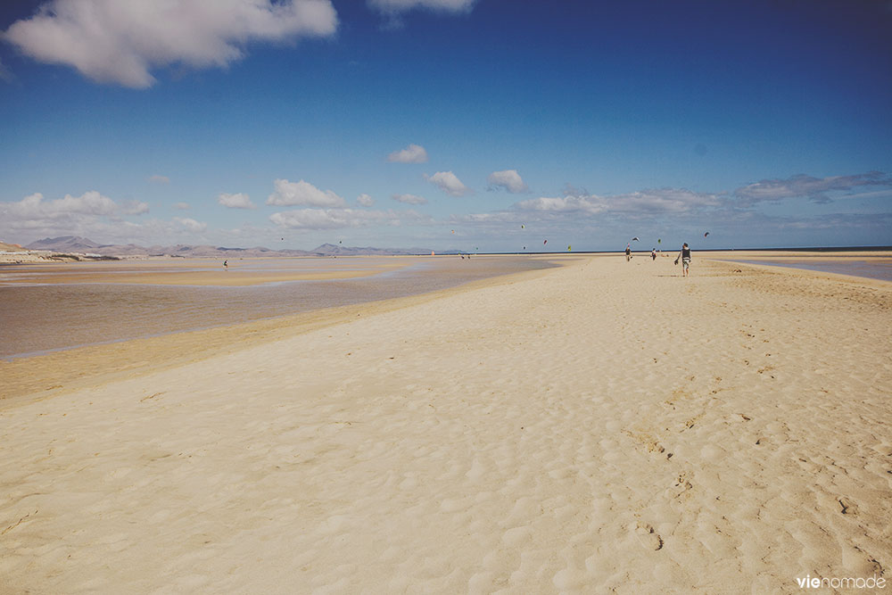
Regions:
[[892, 284], [560, 260], [0, 362], [0, 592], [892, 581]]

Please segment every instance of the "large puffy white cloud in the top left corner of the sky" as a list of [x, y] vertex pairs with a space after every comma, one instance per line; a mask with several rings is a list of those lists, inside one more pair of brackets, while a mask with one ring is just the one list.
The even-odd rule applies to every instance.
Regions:
[[330, 0], [50, 0], [4, 38], [37, 61], [145, 88], [153, 68], [226, 67], [251, 42], [327, 37], [336, 28]]

